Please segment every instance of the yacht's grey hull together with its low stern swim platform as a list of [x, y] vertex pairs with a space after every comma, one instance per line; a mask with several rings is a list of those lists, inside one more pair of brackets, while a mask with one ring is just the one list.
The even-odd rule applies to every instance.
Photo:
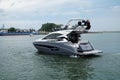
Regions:
[[33, 43], [38, 51], [47, 54], [61, 54], [61, 55], [98, 55], [102, 51], [90, 50], [78, 52], [76, 47], [70, 42], [34, 42]]

